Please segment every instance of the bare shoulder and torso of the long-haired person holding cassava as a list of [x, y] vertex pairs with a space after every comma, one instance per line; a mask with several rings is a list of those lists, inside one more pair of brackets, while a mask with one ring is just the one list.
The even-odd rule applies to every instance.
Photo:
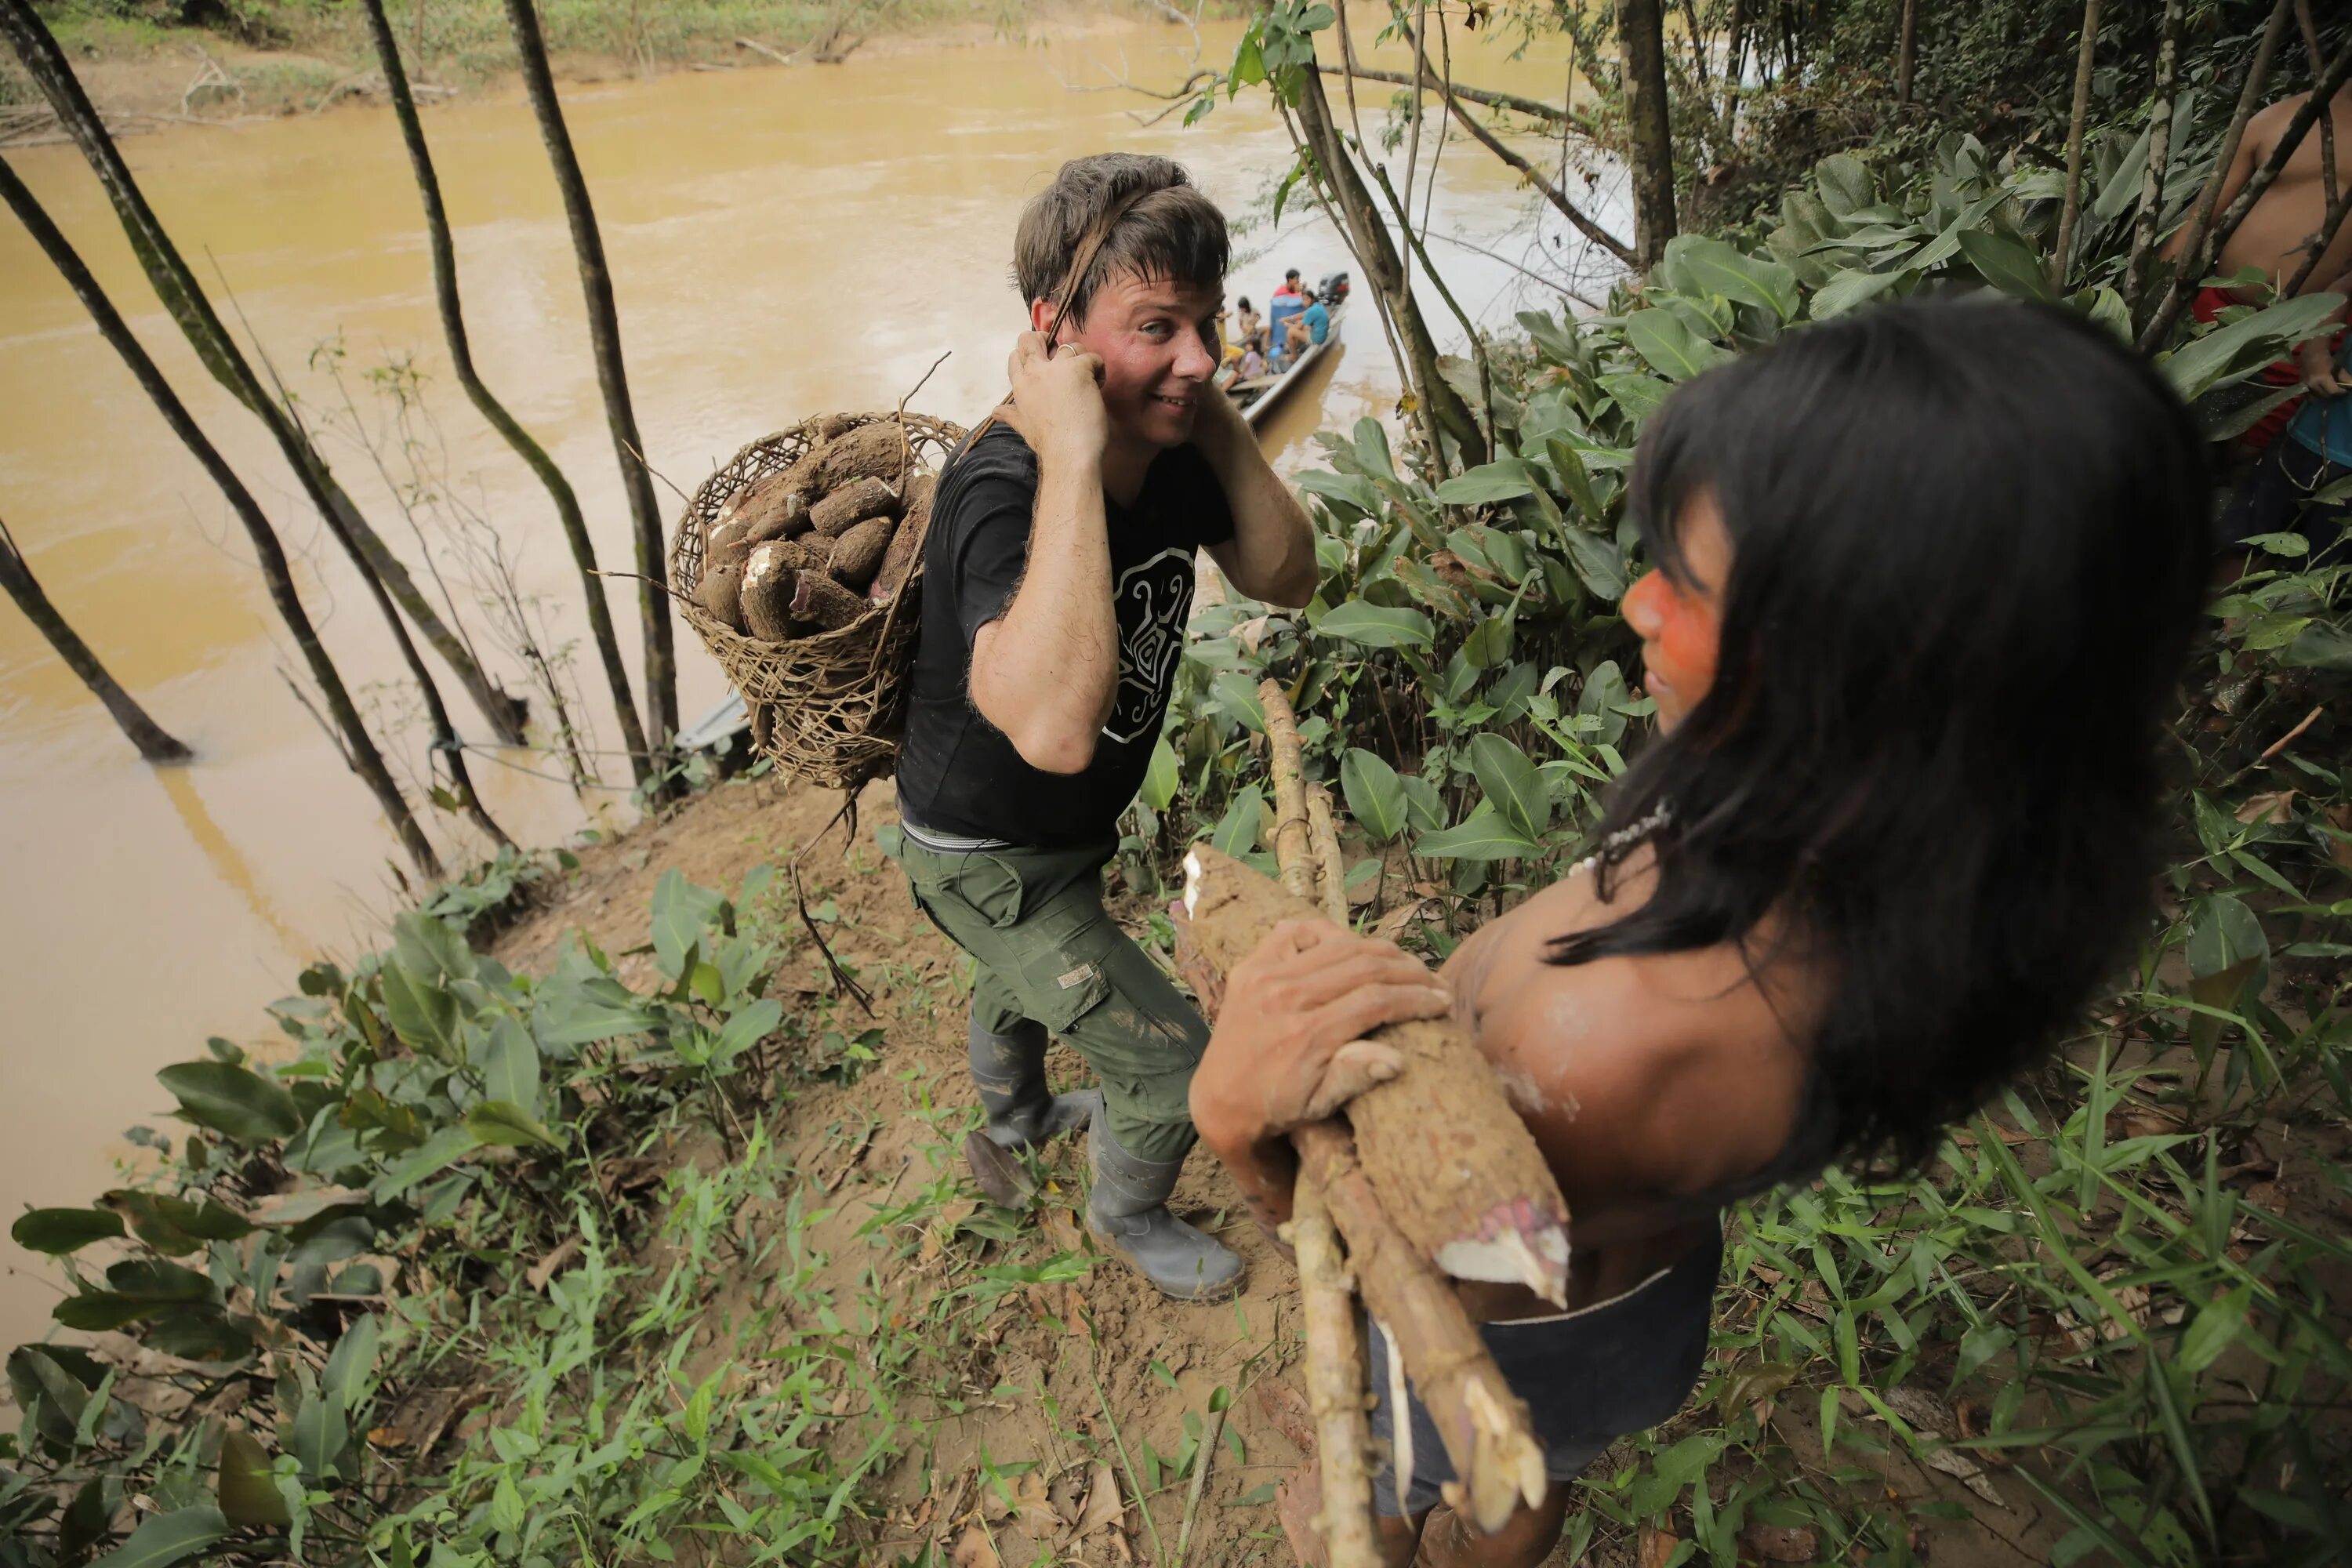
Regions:
[[[1486, 924], [1446, 961], [1456, 1016], [1494, 1063], [1569, 1199], [1569, 1307], [1621, 1295], [1717, 1225], [1710, 1190], [1764, 1171], [1795, 1131], [1811, 1027], [1802, 961], [1762, 983], [1731, 945], [1548, 964], [1555, 938], [1637, 907], [1646, 851], [1611, 903], [1590, 872]], [[1771, 940], [1759, 933], [1759, 945]], [[1517, 1286], [1463, 1286], [1486, 1321], [1555, 1312]]]

